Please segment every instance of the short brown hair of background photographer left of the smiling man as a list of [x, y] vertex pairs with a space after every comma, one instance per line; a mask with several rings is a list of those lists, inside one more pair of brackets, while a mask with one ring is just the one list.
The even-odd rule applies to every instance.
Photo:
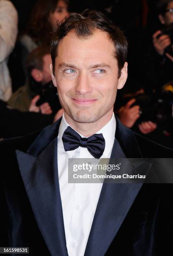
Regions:
[[43, 57], [46, 54], [50, 54], [50, 47], [48, 46], [47, 47], [39, 46], [33, 51], [31, 51], [26, 61], [28, 74], [31, 73], [32, 69], [39, 69], [39, 70], [43, 69]]

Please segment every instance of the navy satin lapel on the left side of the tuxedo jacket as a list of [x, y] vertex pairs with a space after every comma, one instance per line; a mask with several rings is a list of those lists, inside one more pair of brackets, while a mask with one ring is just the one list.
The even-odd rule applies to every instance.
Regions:
[[58, 180], [57, 137], [38, 157], [16, 150], [20, 174], [38, 227], [53, 256], [67, 256]]

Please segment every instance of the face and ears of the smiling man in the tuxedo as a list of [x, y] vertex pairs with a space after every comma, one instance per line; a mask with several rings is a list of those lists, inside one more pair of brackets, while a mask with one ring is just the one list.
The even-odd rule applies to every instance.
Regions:
[[96, 31], [90, 38], [79, 39], [70, 32], [59, 44], [52, 79], [65, 116], [93, 123], [112, 113], [117, 88], [127, 79], [127, 63], [118, 79], [114, 44], [107, 33]]

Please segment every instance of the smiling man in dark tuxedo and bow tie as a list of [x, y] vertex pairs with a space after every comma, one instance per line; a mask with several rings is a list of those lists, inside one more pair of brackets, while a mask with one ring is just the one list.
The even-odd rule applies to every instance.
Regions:
[[0, 145], [1, 161], [8, 159], [2, 246], [29, 247], [34, 256], [168, 255], [171, 184], [68, 183], [69, 158], [173, 156], [113, 114], [127, 79], [126, 56], [123, 33], [102, 13], [71, 14], [59, 25], [51, 74], [64, 115]]

